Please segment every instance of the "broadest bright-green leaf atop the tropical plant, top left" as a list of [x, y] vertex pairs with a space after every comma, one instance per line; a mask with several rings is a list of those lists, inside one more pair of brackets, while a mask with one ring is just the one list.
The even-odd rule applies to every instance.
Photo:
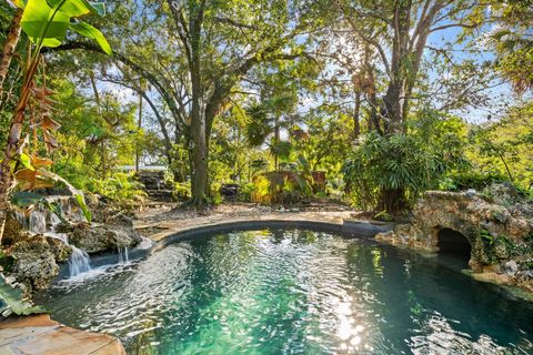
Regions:
[[42, 0], [28, 0], [20, 26], [33, 43], [43, 47], [58, 47], [67, 36], [70, 17], [62, 11], [53, 11]]

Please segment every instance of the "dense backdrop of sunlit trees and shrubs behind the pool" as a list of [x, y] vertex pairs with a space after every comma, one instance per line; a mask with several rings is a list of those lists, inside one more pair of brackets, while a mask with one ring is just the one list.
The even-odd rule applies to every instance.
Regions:
[[[44, 37], [31, 17], [56, 1], [1, 4], [0, 138], [19, 110], [4, 154], [17, 164], [27, 141], [47, 170], [110, 196], [133, 179], [119, 166], [164, 165], [200, 209], [228, 183], [244, 201], [392, 213], [428, 189], [531, 187], [529, 1], [69, 4]], [[33, 143], [43, 102], [19, 101], [31, 60], [58, 123]]]

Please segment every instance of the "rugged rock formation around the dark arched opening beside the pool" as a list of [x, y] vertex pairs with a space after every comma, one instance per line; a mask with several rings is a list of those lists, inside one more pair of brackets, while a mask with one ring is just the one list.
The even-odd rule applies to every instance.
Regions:
[[467, 240], [474, 273], [495, 273], [501, 277], [487, 277], [533, 290], [533, 202], [512, 185], [495, 184], [482, 194], [428, 191], [415, 204], [410, 223], [375, 237], [439, 252], [444, 229]]

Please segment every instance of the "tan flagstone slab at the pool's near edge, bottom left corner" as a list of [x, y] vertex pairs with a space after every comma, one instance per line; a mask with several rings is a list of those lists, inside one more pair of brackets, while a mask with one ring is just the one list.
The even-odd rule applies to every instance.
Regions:
[[0, 354], [125, 355], [125, 351], [114, 336], [78, 331], [39, 314], [0, 322]]

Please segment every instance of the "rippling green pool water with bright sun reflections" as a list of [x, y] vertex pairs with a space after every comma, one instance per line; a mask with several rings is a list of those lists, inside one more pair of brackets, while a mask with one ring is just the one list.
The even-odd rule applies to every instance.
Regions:
[[533, 306], [461, 261], [310, 231], [170, 245], [39, 303], [128, 354], [533, 354]]

